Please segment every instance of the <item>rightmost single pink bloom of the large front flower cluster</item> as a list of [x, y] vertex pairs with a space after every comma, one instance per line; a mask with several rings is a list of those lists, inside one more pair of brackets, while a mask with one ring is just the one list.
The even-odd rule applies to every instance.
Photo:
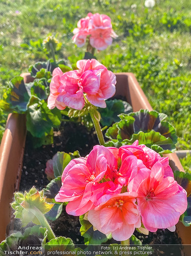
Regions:
[[187, 209], [186, 191], [174, 178], [164, 178], [164, 167], [160, 162], [151, 170], [141, 169], [130, 181], [128, 190], [138, 193], [142, 223], [152, 232], [174, 226]]

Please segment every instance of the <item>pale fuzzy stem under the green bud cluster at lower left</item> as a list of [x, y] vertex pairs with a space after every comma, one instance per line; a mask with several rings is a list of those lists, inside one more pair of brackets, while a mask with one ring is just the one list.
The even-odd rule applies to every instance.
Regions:
[[42, 227], [46, 227], [46, 229], [47, 229], [47, 238], [49, 239], [49, 241], [51, 239], [56, 238], [55, 234], [53, 234], [53, 231], [52, 231], [49, 223], [47, 222], [47, 219], [45, 218], [44, 214], [41, 213], [37, 207], [34, 207], [34, 209], [28, 209], [28, 211], [33, 213], [35, 215], [35, 217], [37, 217], [37, 219], [39, 220], [40, 225]]

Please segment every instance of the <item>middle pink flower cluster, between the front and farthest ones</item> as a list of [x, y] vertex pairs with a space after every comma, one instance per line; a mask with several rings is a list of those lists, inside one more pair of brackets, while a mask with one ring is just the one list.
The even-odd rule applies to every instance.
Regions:
[[105, 100], [115, 94], [116, 76], [95, 59], [77, 61], [78, 70], [63, 73], [59, 67], [52, 72], [50, 95], [47, 100], [49, 109], [55, 106], [63, 110], [71, 107], [83, 109], [85, 99], [91, 104], [106, 107]]

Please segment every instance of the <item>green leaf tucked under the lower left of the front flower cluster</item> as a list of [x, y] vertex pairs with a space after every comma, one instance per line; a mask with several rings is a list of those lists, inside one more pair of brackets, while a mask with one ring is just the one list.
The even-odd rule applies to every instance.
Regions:
[[105, 235], [102, 232], [93, 230], [92, 224], [84, 219], [84, 215], [80, 216], [80, 232], [85, 237], [85, 244], [101, 244], [111, 239], [111, 234]]

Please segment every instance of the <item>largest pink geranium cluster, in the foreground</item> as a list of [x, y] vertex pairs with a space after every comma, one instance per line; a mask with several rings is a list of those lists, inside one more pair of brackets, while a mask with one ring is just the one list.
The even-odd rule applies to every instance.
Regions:
[[69, 202], [68, 214], [88, 212], [96, 229], [118, 241], [141, 222], [152, 232], [175, 230], [187, 209], [186, 191], [174, 180], [168, 157], [138, 141], [120, 149], [97, 145], [85, 158], [71, 160], [55, 200]]

